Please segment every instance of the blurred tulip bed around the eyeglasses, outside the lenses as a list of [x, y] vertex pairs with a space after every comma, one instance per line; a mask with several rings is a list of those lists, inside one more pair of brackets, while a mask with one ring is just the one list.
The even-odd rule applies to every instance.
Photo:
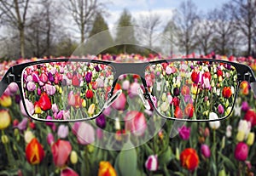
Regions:
[[[193, 58], [195, 54], [187, 57]], [[253, 58], [216, 57], [239, 61], [256, 71]], [[96, 59], [122, 62], [127, 58], [159, 59], [154, 55], [145, 58], [123, 54]], [[1, 75], [10, 65], [31, 60], [3, 62]], [[216, 75], [222, 77], [220, 72]], [[140, 108], [134, 98], [139, 86], [136, 75], [120, 77], [117, 89], [122, 88], [123, 93], [102, 116], [92, 122], [52, 123], [27, 118], [17, 85], [11, 83], [0, 99], [0, 175], [253, 175], [256, 172], [256, 103], [247, 82], [241, 83], [230, 118], [221, 122], [187, 122], [177, 128], [177, 135], [172, 135], [175, 122], [162, 121], [152, 111]], [[34, 85], [28, 88], [33, 89]], [[87, 99], [95, 94], [87, 92], [84, 94]], [[230, 96], [230, 90], [223, 94]], [[74, 107], [83, 104], [75, 102]], [[41, 110], [37, 111], [44, 109], [39, 104], [38, 107]], [[49, 108], [53, 115], [48, 118], [66, 116], [55, 105]], [[224, 108], [219, 106], [218, 111]]]

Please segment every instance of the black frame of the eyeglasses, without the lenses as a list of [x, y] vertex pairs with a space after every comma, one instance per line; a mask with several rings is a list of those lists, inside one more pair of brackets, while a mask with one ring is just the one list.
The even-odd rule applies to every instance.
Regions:
[[[231, 62], [231, 61], [228, 61], [228, 60], [201, 59], [201, 58], [189, 58], [189, 59], [187, 59], [187, 58], [185, 58], [185, 59], [152, 60], [152, 61], [148, 61], [148, 62], [137, 62], [137, 63], [120, 63], [120, 62], [107, 61], [107, 60], [61, 58], [61, 59], [49, 59], [49, 60], [37, 60], [37, 61], [26, 62], [26, 63], [22, 63], [20, 65], [14, 65], [14, 66], [10, 67], [9, 70], [6, 72], [6, 74], [3, 76], [3, 79], [0, 82], [0, 95], [3, 94], [4, 89], [8, 87], [10, 82], [16, 82], [18, 84], [18, 86], [19, 86], [19, 89], [20, 89], [20, 93], [21, 93], [20, 96], [21, 96], [22, 103], [24, 105], [24, 109], [26, 111], [26, 114], [29, 117], [31, 117], [33, 120], [36, 120], [36, 121], [39, 121], [39, 122], [81, 122], [81, 121], [89, 121], [89, 120], [96, 119], [105, 110], [104, 107], [102, 108], [102, 111], [100, 111], [97, 115], [92, 116], [92, 117], [88, 117], [88, 118], [85, 118], [85, 119], [73, 119], [73, 120], [61, 120], [61, 121], [60, 120], [56, 120], [56, 119], [52, 119], [52, 120], [49, 120], [49, 119], [39, 119], [39, 118], [35, 118], [35, 117], [31, 116], [28, 113], [28, 110], [27, 110], [26, 104], [25, 104], [25, 97], [24, 97], [24, 94], [23, 94], [23, 88], [22, 88], [22, 84], [21, 84], [22, 83], [21, 82], [22, 71], [24, 71], [24, 69], [27, 66], [30, 66], [30, 65], [38, 65], [38, 64], [51, 63], [51, 62], [61, 62], [61, 61], [64, 61], [64, 62], [67, 62], [67, 61], [79, 62], [80, 61], [80, 62], [89, 62], [89, 63], [95, 63], [95, 64], [102, 64], [102, 65], [109, 65], [109, 66], [111, 66], [113, 68], [113, 71], [114, 71], [113, 72], [113, 74], [114, 74], [113, 85], [112, 85], [112, 88], [111, 88], [111, 91], [110, 91], [112, 95], [113, 95], [113, 89], [114, 89], [114, 87], [116, 85], [116, 82], [118, 81], [119, 76], [122, 75], [120, 73], [124, 72], [124, 71], [119, 72], [120, 68], [125, 68], [128, 65], [142, 65], [143, 68], [144, 68], [143, 71], [137, 72], [137, 73], [139, 73], [138, 75], [140, 76], [140, 78], [141, 78], [141, 80], [143, 82], [143, 87], [145, 89], [145, 94], [144, 94], [145, 99], [149, 100], [151, 105], [153, 105], [153, 107], [154, 107], [154, 111], [156, 111], [159, 116], [161, 116], [163, 118], [166, 118], [168, 120], [181, 121], [181, 122], [214, 122], [214, 121], [224, 120], [224, 119], [230, 117], [230, 115], [232, 114], [232, 111], [234, 110], [235, 103], [232, 105], [232, 108], [231, 108], [231, 111], [230, 111], [229, 115], [221, 117], [221, 118], [218, 118], [218, 119], [194, 120], [194, 119], [179, 119], [179, 118], [175, 118], [175, 117], [164, 116], [155, 107], [155, 105], [153, 103], [153, 100], [151, 99], [151, 94], [149, 93], [148, 88], [147, 88], [147, 84], [146, 84], [146, 80], [145, 80], [145, 77], [144, 77], [144, 73], [145, 73], [145, 69], [146, 69], [146, 67], [148, 65], [170, 63], [170, 62], [175, 62], [175, 61], [220, 62], [220, 63], [224, 63], [224, 64], [233, 65], [236, 68], [237, 76], [238, 76], [237, 77], [236, 95], [235, 95], [234, 102], [236, 102], [237, 92], [238, 92], [238, 88], [239, 88], [239, 85], [241, 84], [241, 82], [243, 82], [243, 81], [256, 82], [256, 78], [254, 76], [254, 73], [253, 73], [253, 70], [251, 69], [251, 67], [249, 67], [248, 65], [243, 65], [241, 63]], [[127, 72], [125, 74], [132, 74], [132, 73]], [[249, 74], [249, 77], [246, 77], [247, 74]], [[10, 80], [10, 77], [13, 77], [13, 76], [17, 77], [18, 79], [13, 79], [12, 78], [13, 80]], [[247, 78], [248, 78], [248, 80], [247, 80]]]

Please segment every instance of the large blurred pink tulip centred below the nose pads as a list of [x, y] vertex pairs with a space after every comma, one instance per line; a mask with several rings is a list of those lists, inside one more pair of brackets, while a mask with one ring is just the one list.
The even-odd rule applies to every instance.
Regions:
[[140, 111], [129, 111], [125, 115], [125, 131], [142, 136], [147, 128], [147, 122], [144, 114]]

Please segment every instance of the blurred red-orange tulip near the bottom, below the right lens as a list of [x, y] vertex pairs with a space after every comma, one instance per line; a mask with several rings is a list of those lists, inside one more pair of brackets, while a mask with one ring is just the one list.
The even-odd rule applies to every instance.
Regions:
[[199, 157], [196, 150], [192, 148], [183, 150], [180, 154], [180, 163], [182, 167], [188, 169], [189, 171], [194, 171], [199, 164]]

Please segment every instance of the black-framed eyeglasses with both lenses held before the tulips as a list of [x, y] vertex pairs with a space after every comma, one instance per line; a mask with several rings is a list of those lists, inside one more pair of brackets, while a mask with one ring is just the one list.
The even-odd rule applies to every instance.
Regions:
[[[100, 116], [122, 94], [121, 75], [135, 74], [146, 109], [166, 119], [190, 122], [230, 116], [242, 81], [256, 80], [247, 65], [224, 60], [172, 59], [145, 63], [56, 59], [15, 65], [0, 82], [0, 95], [17, 82], [25, 111], [43, 122], [75, 122]], [[56, 111], [61, 116], [48, 119]]]

